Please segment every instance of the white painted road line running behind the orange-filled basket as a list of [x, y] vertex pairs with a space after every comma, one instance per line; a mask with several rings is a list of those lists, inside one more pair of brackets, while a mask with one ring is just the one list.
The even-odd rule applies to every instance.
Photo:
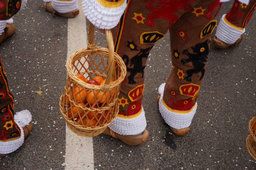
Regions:
[[[79, 0], [79, 15], [67, 22], [67, 58], [87, 47], [86, 17]], [[66, 125], [65, 170], [93, 170], [93, 138], [78, 136]]]

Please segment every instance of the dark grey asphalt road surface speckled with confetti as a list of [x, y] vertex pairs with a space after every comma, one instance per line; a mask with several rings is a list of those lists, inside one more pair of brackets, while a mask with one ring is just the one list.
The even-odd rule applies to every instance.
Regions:
[[[224, 3], [216, 20], [232, 4]], [[53, 18], [41, 1], [28, 1], [14, 20], [15, 35], [0, 44], [0, 57], [15, 97], [15, 111], [28, 109], [34, 128], [22, 147], [0, 158], [0, 170], [64, 170], [66, 127], [59, 97], [67, 76], [67, 19]], [[157, 42], [145, 68], [148, 141], [128, 146], [109, 136], [93, 137], [94, 169], [256, 169], [245, 141], [248, 122], [256, 116], [255, 25], [253, 14], [237, 47], [219, 50], [211, 46], [198, 110], [185, 136], [172, 134], [158, 111], [158, 87], [169, 76], [172, 62], [169, 34]]]

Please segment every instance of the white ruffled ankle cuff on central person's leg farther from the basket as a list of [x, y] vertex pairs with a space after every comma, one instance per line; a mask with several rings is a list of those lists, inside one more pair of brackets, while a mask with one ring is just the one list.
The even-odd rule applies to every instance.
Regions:
[[195, 103], [194, 108], [189, 113], [175, 113], [172, 111], [169, 111], [162, 102], [163, 99], [163, 91], [164, 91], [165, 83], [161, 84], [158, 92], [161, 95], [159, 100], [159, 111], [164, 119], [164, 121], [171, 127], [175, 129], [182, 129], [185, 127], [189, 127], [192, 119], [195, 115], [195, 111], [197, 108], [197, 103]]

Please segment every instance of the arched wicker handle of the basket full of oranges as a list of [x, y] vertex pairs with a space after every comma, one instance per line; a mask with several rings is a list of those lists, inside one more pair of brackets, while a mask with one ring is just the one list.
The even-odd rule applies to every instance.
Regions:
[[[113, 77], [113, 69], [114, 69], [114, 44], [113, 44], [113, 36], [111, 30], [105, 30], [107, 42], [108, 42], [108, 72], [107, 72], [107, 78], [104, 82], [105, 85], [109, 85], [111, 82], [111, 79]], [[97, 46], [94, 44], [94, 26], [92, 23], [90, 23], [89, 26], [89, 40], [87, 43], [87, 48], [92, 49], [93, 53], [96, 52]], [[113, 69], [110, 69], [113, 68]]]

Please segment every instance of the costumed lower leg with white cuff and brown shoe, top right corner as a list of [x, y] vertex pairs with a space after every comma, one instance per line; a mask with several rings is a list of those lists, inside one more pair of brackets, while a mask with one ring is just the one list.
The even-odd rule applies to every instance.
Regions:
[[235, 0], [232, 8], [221, 17], [218, 24], [213, 45], [218, 48], [227, 48], [237, 45], [245, 31], [253, 11], [256, 8], [256, 0], [250, 0], [248, 5]]

